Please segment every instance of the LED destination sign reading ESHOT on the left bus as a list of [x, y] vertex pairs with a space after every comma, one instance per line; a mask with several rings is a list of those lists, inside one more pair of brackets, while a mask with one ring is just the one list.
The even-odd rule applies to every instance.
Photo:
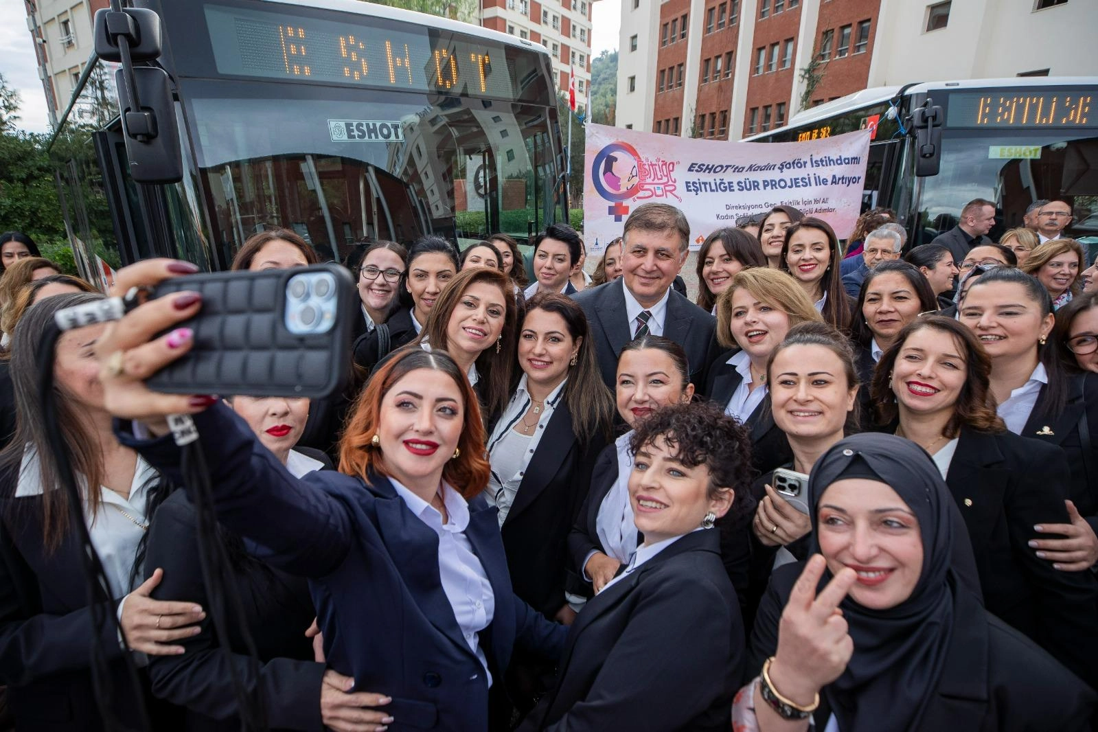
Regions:
[[205, 7], [220, 74], [511, 97], [502, 46], [223, 5]]

